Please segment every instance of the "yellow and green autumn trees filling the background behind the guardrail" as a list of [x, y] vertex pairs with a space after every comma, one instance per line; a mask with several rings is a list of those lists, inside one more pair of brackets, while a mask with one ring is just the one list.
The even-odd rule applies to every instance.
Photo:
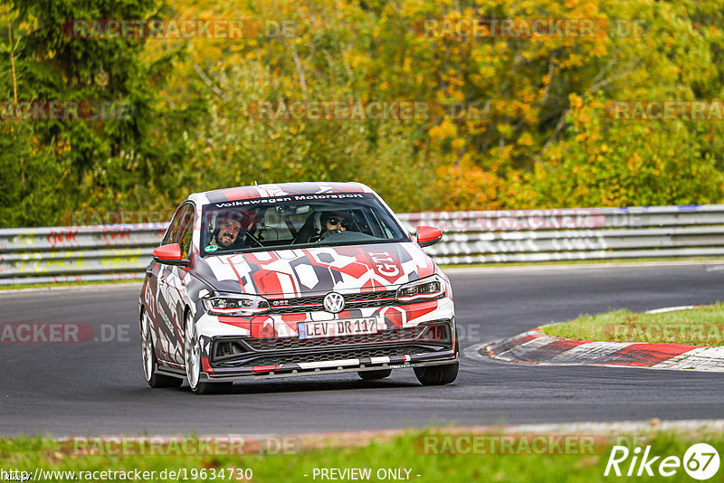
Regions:
[[[724, 199], [724, 123], [607, 109], [721, 99], [720, 0], [59, 5], [0, 10], [3, 99], [14, 95], [14, 52], [20, 99], [136, 109], [102, 125], [0, 124], [4, 226], [57, 223], [64, 209], [167, 209], [189, 192], [254, 181], [357, 180], [399, 212]], [[59, 26], [72, 18], [243, 19], [255, 29], [73, 39]], [[499, 30], [476, 36], [481, 19], [500, 19]], [[520, 30], [534, 19], [564, 30]], [[566, 19], [591, 19], [594, 34], [567, 34]], [[416, 101], [430, 116], [264, 119], [252, 115], [262, 101]]]

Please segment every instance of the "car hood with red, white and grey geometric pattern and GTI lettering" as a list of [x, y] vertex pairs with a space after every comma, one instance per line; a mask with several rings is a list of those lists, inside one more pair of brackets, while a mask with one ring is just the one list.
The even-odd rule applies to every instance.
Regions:
[[292, 298], [393, 289], [435, 273], [414, 242], [195, 257], [195, 273], [219, 291]]

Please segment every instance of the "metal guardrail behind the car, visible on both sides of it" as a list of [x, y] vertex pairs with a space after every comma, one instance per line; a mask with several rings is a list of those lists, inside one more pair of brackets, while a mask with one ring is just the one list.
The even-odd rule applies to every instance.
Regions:
[[[724, 256], [724, 204], [405, 213], [438, 263]], [[0, 285], [142, 279], [167, 223], [0, 230]]]

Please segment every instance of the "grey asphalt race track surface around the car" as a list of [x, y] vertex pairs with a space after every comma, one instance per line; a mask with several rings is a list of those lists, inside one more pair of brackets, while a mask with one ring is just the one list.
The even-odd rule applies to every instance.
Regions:
[[[0, 293], [0, 322], [114, 327], [111, 341], [0, 343], [0, 434], [298, 433], [558, 421], [724, 418], [724, 374], [502, 363], [471, 347], [614, 308], [724, 300], [724, 263], [449, 270], [462, 327], [455, 384], [412, 370], [237, 383], [197, 396], [143, 379], [137, 287]], [[129, 336], [118, 336], [129, 327]], [[126, 340], [126, 338], [128, 340]]]

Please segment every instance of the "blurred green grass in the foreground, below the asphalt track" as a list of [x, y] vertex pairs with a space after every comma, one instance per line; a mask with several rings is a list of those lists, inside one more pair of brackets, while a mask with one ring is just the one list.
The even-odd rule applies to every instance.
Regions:
[[[724, 435], [715, 432], [649, 432], [635, 436], [591, 436], [595, 444], [576, 446], [574, 454], [531, 454], [535, 451], [523, 450], [521, 440], [512, 445], [513, 454], [424, 454], [424, 438], [439, 436], [440, 433], [429, 431], [413, 431], [393, 438], [367, 441], [359, 447], [359, 440], [354, 434], [344, 445], [327, 445], [319, 450], [301, 450], [296, 454], [237, 454], [213, 456], [176, 456], [162, 454], [155, 456], [108, 456], [102, 454], [76, 455], [72, 447], [62, 445], [55, 440], [41, 438], [20, 438], [15, 440], [0, 439], [0, 469], [19, 469], [34, 473], [36, 468], [44, 470], [120, 470], [138, 469], [156, 471], [156, 478], [148, 481], [175, 481], [174, 478], [158, 478], [164, 469], [186, 469], [191, 479], [192, 470], [205, 469], [206, 478], [196, 480], [228, 481], [228, 470], [224, 471], [224, 479], [210, 478], [211, 471], [218, 475], [221, 469], [251, 469], [255, 482], [311, 482], [314, 469], [372, 469], [373, 478], [377, 469], [411, 469], [410, 479], [421, 483], [430, 482], [474, 482], [474, 481], [538, 481], [538, 482], [590, 482], [610, 481], [612, 476], [604, 477], [604, 470], [611, 454], [614, 440], [632, 449], [636, 446], [652, 446], [652, 455], [678, 456], [682, 458], [692, 443], [708, 442], [724, 455]], [[465, 433], [470, 435], [470, 432]], [[478, 436], [490, 438], [500, 437], [500, 432], [477, 433]], [[537, 436], [528, 434], [517, 438], [532, 441]], [[538, 435], [539, 436], [539, 435]], [[364, 438], [364, 435], [360, 435]], [[545, 437], [545, 435], [544, 435]], [[367, 437], [369, 438], [369, 437]], [[576, 437], [579, 438], [579, 437]], [[500, 439], [498, 439], [500, 440]], [[620, 441], [625, 442], [620, 442]], [[635, 443], [634, 443], [635, 441]], [[434, 448], [435, 446], [433, 446]], [[532, 448], [532, 445], [529, 446]], [[564, 446], [565, 447], [565, 446]], [[442, 448], [437, 446], [438, 449]], [[470, 448], [470, 446], [463, 447]], [[486, 448], [490, 448], [486, 446]], [[510, 452], [510, 450], [509, 450]], [[555, 451], [554, 451], [555, 452]], [[560, 452], [560, 451], [558, 451]], [[563, 451], [566, 452], [565, 450]], [[98, 451], [97, 451], [98, 453]], [[519, 453], [519, 454], [516, 454]], [[632, 451], [633, 456], [633, 451]], [[659, 459], [661, 460], [661, 459]], [[626, 460], [622, 468], [628, 468], [631, 458]], [[654, 467], [655, 469], [655, 467]], [[719, 470], [720, 475], [721, 470]], [[404, 473], [403, 473], [404, 474]], [[308, 475], [305, 477], [304, 475]], [[416, 475], [420, 475], [417, 477]], [[183, 478], [180, 478], [184, 480]], [[622, 479], [622, 478], [619, 478]], [[625, 478], [623, 478], [625, 479]], [[657, 478], [636, 478], [643, 481], [654, 481]], [[48, 479], [46, 479], [48, 480]], [[54, 478], [52, 481], [69, 481], [67, 478]], [[232, 479], [234, 481], [236, 479]], [[242, 480], [243, 479], [239, 479]], [[682, 468], [667, 481], [691, 481]], [[720, 480], [720, 478], [719, 478]], [[329, 480], [328, 480], [329, 481]]]

